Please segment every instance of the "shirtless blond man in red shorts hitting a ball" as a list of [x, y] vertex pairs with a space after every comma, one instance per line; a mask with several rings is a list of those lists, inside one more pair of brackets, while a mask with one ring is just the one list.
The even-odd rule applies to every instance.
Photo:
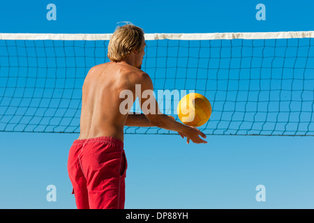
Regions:
[[[108, 45], [110, 62], [91, 68], [84, 80], [80, 137], [68, 157], [77, 208], [124, 208], [124, 125], [157, 126], [179, 132], [187, 142], [207, 143], [200, 138], [206, 137], [200, 130], [160, 114], [155, 98], [155, 112], [121, 113], [121, 91], [132, 91], [133, 102], [138, 96], [141, 107], [148, 100], [141, 98], [142, 92], [153, 91], [151, 78], [140, 70], [145, 45], [142, 29], [132, 24], [118, 27]], [[140, 84], [140, 93], [135, 92], [135, 84]]]

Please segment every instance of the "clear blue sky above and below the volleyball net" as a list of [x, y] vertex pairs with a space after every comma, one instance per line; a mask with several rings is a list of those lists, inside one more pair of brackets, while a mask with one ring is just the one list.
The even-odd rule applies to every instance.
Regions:
[[[46, 6], [57, 6], [47, 21]], [[266, 20], [255, 19], [264, 3]], [[112, 33], [129, 21], [146, 33], [313, 31], [313, 1], [7, 1], [1, 33]], [[66, 170], [78, 134], [1, 132], [0, 208], [75, 208]], [[314, 208], [313, 137], [126, 134], [126, 208]], [[57, 201], [46, 200], [47, 185]], [[257, 185], [266, 201], [257, 202]]]

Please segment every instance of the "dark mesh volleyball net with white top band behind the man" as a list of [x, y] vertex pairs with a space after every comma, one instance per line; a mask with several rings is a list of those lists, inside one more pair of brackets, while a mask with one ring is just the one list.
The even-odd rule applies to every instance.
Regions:
[[[109, 62], [110, 37], [0, 33], [0, 131], [79, 133], [82, 84], [91, 67]], [[313, 38], [314, 31], [145, 34], [142, 70], [156, 95], [184, 90], [209, 99], [205, 134], [313, 136]], [[161, 112], [179, 121], [174, 94], [161, 101]], [[141, 112], [136, 103], [133, 112]], [[177, 134], [128, 126], [124, 133]]]

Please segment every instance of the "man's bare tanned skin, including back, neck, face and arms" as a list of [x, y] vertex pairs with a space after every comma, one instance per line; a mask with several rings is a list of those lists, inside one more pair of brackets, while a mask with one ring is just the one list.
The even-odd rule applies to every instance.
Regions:
[[[181, 124], [172, 116], [161, 114], [156, 99], [156, 112], [152, 114], [121, 114], [119, 107], [124, 98], [119, 95], [123, 90], [133, 92], [133, 102], [141, 97], [145, 90], [154, 90], [151, 78], [141, 69], [145, 54], [142, 47], [133, 50], [126, 59], [120, 62], [103, 63], [89, 70], [82, 88], [82, 112], [80, 119], [80, 137], [89, 139], [95, 137], [115, 137], [124, 141], [124, 125], [151, 127], [157, 126], [165, 130], [179, 132], [182, 138], [187, 137], [187, 143], [207, 143], [200, 138], [206, 135], [197, 128]], [[135, 84], [140, 84], [141, 95], [135, 94]], [[148, 98], [140, 98], [140, 106]]]

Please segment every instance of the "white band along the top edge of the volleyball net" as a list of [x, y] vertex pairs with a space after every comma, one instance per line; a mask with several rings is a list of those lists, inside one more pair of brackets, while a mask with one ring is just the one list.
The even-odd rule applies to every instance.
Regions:
[[[145, 40], [231, 40], [314, 38], [314, 31], [287, 31], [264, 33], [145, 33]], [[110, 40], [107, 34], [67, 33], [0, 33], [0, 40]]]

